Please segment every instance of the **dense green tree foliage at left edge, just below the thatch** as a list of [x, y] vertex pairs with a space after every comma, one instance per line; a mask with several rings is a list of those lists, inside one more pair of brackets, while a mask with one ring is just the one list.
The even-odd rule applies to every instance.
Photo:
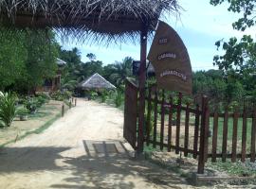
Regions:
[[0, 33], [0, 89], [27, 94], [55, 75], [58, 54], [51, 30], [0, 28]]

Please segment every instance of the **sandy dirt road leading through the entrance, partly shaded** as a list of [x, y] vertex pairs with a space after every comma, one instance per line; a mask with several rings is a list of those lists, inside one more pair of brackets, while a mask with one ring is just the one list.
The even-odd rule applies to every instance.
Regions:
[[127, 155], [123, 114], [78, 101], [39, 135], [0, 149], [0, 188], [187, 188], [186, 182]]

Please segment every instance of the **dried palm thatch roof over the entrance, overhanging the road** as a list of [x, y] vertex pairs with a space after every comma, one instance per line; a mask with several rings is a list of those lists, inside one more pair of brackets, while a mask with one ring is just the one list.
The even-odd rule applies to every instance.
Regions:
[[0, 25], [117, 41], [137, 37], [142, 24], [153, 31], [162, 11], [178, 9], [176, 0], [0, 0]]

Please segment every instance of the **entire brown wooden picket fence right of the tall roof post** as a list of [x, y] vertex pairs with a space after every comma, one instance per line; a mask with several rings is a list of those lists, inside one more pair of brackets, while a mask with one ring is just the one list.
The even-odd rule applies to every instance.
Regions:
[[[211, 113], [206, 96], [202, 96], [200, 105], [194, 105], [182, 102], [182, 94], [178, 94], [177, 101], [174, 102], [172, 96], [167, 97], [164, 92], [151, 89], [146, 101], [147, 146], [174, 150], [176, 154], [183, 152], [185, 157], [191, 154], [198, 160], [198, 173], [204, 173], [205, 163], [209, 158], [212, 162], [216, 162], [217, 158], [224, 162], [229, 158], [232, 162], [237, 159], [245, 162], [246, 158], [250, 158], [251, 162], [255, 162], [256, 110], [253, 113], [248, 113], [246, 108], [243, 113]], [[242, 128], [239, 129], [241, 120]], [[250, 131], [247, 130], [248, 122], [251, 125]], [[238, 129], [242, 130], [241, 153], [238, 153]]]

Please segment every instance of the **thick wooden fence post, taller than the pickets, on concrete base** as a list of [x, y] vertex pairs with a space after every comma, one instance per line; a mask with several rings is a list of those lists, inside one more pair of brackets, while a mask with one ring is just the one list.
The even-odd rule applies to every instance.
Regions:
[[200, 129], [200, 147], [198, 158], [198, 174], [204, 174], [205, 163], [208, 155], [208, 131], [209, 131], [209, 107], [208, 98], [203, 96], [202, 100], [202, 118]]

